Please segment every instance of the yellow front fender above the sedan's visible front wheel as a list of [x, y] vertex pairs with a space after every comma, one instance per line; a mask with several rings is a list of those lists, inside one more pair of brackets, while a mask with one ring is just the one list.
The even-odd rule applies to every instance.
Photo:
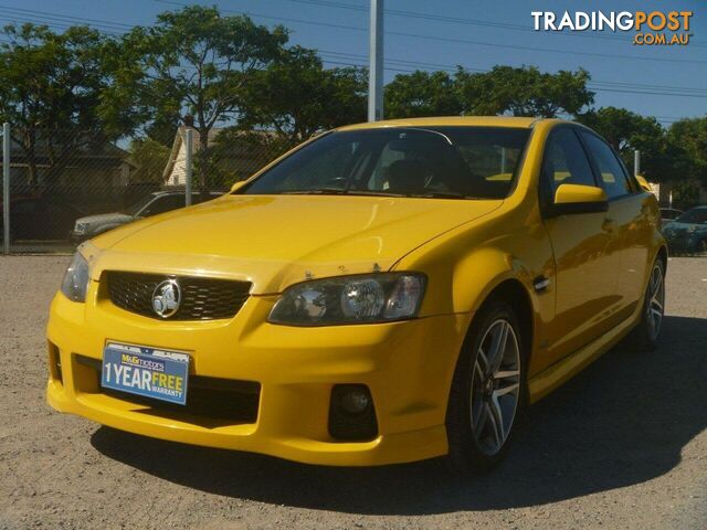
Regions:
[[[498, 226], [504, 226], [500, 235]], [[556, 266], [539, 216], [510, 211], [468, 230], [444, 234], [404, 256], [394, 268], [428, 275], [420, 315], [466, 315], [465, 328], [460, 329], [462, 337], [494, 289], [507, 280], [516, 282], [525, 290], [531, 310], [530, 356], [541, 350], [547, 339], [545, 326], [555, 318]], [[535, 282], [540, 277], [549, 285], [536, 292]]]

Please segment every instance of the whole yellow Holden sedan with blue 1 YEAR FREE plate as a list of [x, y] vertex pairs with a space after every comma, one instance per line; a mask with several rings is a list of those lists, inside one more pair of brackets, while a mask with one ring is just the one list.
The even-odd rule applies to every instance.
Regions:
[[625, 336], [655, 344], [666, 265], [656, 199], [585, 127], [342, 127], [84, 243], [48, 399], [303, 463], [486, 469], [527, 405]]

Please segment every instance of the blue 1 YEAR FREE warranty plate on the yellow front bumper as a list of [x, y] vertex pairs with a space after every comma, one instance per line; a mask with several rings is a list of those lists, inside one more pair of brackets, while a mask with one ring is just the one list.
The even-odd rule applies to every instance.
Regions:
[[189, 356], [180, 351], [108, 342], [101, 384], [106, 389], [187, 404]]

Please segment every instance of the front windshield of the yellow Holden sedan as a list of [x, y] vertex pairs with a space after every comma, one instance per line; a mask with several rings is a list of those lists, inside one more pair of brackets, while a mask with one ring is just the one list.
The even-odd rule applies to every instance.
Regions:
[[529, 134], [508, 127], [336, 131], [238, 193], [503, 199], [513, 188]]

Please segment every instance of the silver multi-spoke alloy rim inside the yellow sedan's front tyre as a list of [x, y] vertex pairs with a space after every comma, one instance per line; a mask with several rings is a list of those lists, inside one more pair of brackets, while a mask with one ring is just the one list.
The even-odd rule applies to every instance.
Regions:
[[484, 333], [472, 374], [472, 432], [484, 454], [495, 455], [508, 439], [519, 399], [518, 339], [510, 322], [498, 319]]

